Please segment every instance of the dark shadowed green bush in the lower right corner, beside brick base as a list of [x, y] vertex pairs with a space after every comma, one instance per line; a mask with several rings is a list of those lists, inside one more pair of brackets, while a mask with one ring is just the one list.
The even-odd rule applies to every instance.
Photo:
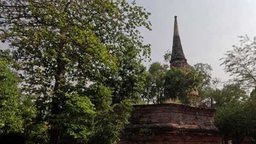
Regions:
[[255, 100], [234, 101], [218, 107], [214, 123], [224, 135], [224, 140], [242, 143], [243, 140], [255, 143], [256, 139]]

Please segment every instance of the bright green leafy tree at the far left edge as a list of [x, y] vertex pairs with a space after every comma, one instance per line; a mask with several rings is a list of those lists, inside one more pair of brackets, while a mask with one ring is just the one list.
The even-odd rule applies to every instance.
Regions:
[[18, 88], [19, 81], [0, 58], [0, 136], [25, 133], [36, 115], [32, 99]]

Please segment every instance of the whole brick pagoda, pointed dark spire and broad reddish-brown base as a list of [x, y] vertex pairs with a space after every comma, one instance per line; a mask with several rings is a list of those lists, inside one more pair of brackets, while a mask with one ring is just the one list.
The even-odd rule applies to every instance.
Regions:
[[[174, 17], [171, 68], [189, 70], [179, 37], [177, 16]], [[196, 103], [201, 104], [197, 91]], [[214, 126], [214, 109], [180, 104], [135, 105], [130, 124], [119, 144], [219, 144], [222, 134]]]

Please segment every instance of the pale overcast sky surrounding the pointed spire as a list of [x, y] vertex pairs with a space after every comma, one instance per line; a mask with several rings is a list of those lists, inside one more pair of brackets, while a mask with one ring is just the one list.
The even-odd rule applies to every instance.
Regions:
[[172, 49], [175, 15], [188, 63], [211, 64], [213, 77], [223, 81], [229, 75], [219, 59], [240, 44], [237, 36], [256, 36], [255, 0], [138, 0], [137, 4], [152, 13], [153, 31], [141, 29], [144, 42], [152, 44], [152, 62], [164, 62], [165, 51]]

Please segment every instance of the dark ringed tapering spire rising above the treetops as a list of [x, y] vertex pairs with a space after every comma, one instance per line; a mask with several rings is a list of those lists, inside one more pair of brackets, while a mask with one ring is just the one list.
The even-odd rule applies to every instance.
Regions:
[[170, 63], [174, 61], [187, 62], [182, 50], [181, 39], [179, 38], [179, 28], [177, 22], [177, 16], [174, 16], [174, 31], [173, 31], [173, 44], [172, 44], [172, 56]]

